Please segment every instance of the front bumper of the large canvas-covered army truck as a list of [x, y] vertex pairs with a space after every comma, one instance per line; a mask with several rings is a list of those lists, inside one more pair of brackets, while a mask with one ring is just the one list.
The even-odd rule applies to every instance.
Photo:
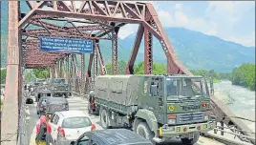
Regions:
[[180, 138], [182, 135], [190, 134], [190, 133], [206, 133], [210, 130], [213, 130], [216, 127], [216, 121], [209, 121], [205, 123], [197, 123], [197, 124], [187, 124], [187, 125], [178, 125], [178, 126], [168, 126], [164, 125], [159, 129], [159, 137], [155, 137], [164, 141], [167, 138]]

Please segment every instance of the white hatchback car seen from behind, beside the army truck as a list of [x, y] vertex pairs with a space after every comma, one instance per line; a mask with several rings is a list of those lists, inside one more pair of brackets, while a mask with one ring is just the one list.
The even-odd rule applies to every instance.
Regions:
[[50, 125], [56, 145], [69, 145], [80, 135], [96, 130], [89, 114], [82, 111], [56, 112], [51, 117]]

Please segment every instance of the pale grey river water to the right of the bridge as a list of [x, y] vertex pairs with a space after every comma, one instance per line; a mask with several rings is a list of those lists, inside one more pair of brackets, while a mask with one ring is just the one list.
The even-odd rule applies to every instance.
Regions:
[[[255, 91], [244, 87], [232, 85], [230, 81], [222, 81], [214, 84], [218, 98], [237, 116], [255, 121]], [[255, 122], [244, 121], [255, 132]]]

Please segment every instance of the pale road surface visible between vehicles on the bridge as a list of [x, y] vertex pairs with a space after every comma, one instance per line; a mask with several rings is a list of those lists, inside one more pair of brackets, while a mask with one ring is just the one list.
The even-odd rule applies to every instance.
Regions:
[[[34, 98], [33, 98], [34, 99]], [[79, 96], [71, 96], [68, 98], [70, 110], [80, 110], [87, 113], [87, 99], [84, 99]], [[36, 114], [36, 102], [33, 104], [27, 104], [27, 114], [28, 114], [28, 124], [27, 124], [27, 133], [28, 137], [30, 138], [30, 145], [35, 145], [34, 138], [35, 138], [35, 125], [38, 121], [38, 115]], [[99, 123], [99, 117], [96, 115], [91, 115], [92, 121], [96, 124], [96, 130], [102, 130], [102, 127]], [[181, 140], [174, 140], [172, 142], [164, 143], [166, 145], [181, 145]], [[209, 139], [206, 137], [201, 136], [198, 143], [195, 145], [224, 145], [216, 140]]]

